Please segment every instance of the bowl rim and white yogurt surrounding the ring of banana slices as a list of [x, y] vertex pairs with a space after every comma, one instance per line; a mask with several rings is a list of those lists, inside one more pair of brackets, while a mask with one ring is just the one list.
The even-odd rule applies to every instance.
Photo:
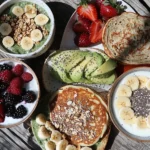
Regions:
[[134, 125], [128, 125], [125, 124], [121, 119], [119, 119], [119, 110], [117, 110], [116, 107], [116, 97], [117, 97], [117, 89], [119, 85], [124, 84], [126, 77], [129, 76], [146, 76], [150, 79], [150, 68], [148, 67], [138, 67], [135, 69], [131, 69], [125, 73], [123, 73], [121, 76], [117, 78], [115, 83], [113, 84], [109, 95], [108, 95], [108, 108], [109, 108], [109, 114], [112, 122], [116, 126], [116, 128], [125, 134], [127, 137], [132, 138], [136, 141], [141, 142], [150, 142], [150, 128], [146, 129], [139, 129], [137, 126]]

